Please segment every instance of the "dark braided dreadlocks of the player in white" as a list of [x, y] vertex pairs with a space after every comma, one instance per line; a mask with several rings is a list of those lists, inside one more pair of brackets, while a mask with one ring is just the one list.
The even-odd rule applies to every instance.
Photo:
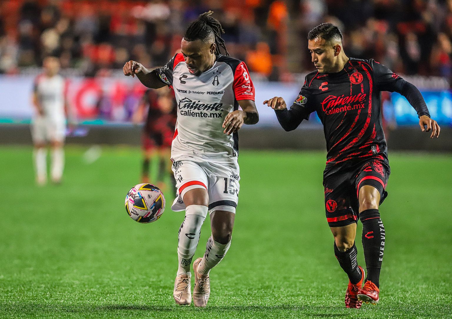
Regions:
[[198, 19], [194, 20], [185, 31], [184, 39], [186, 41], [201, 40], [206, 41], [212, 36], [215, 38], [215, 53], [220, 54], [220, 46], [227, 52], [225, 40], [221, 38], [221, 33], [225, 33], [225, 30], [221, 28], [221, 23], [212, 17], [213, 11], [204, 12], [200, 14]]

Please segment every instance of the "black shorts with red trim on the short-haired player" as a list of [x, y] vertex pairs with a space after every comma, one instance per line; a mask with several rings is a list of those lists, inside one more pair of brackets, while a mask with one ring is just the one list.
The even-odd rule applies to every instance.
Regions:
[[358, 222], [359, 189], [371, 185], [380, 192], [380, 204], [385, 200], [386, 184], [391, 172], [386, 161], [370, 159], [359, 164], [342, 164], [333, 174], [326, 174], [325, 213], [330, 227], [341, 227]]

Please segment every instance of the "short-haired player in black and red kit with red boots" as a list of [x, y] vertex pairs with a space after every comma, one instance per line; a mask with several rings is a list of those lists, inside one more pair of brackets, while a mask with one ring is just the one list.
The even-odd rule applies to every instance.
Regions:
[[[360, 308], [362, 302], [379, 300], [385, 248], [378, 208], [387, 196], [390, 168], [381, 125], [381, 91], [405, 96], [418, 113], [421, 130], [432, 131], [432, 138], [439, 136], [440, 128], [413, 84], [373, 59], [348, 58], [342, 33], [334, 24], [313, 28], [308, 49], [317, 70], [306, 75], [290, 110], [281, 97], [264, 104], [275, 110], [286, 131], [296, 129], [312, 112], [320, 117], [328, 151], [323, 177], [326, 220], [334, 236], [334, 254], [349, 279], [345, 306]], [[367, 277], [356, 257], [358, 219], [363, 223]]]

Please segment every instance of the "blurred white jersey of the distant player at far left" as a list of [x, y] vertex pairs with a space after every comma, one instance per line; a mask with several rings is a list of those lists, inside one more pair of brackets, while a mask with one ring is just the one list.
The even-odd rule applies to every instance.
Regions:
[[65, 121], [65, 89], [66, 83], [61, 75], [47, 77], [38, 75], [34, 82], [34, 92], [38, 95], [44, 116], [51, 121]]

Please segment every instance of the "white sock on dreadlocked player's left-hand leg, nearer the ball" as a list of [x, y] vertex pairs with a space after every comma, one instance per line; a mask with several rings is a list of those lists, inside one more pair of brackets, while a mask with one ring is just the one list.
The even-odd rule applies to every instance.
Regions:
[[201, 226], [206, 220], [207, 206], [189, 205], [185, 209], [185, 219], [179, 228], [179, 244], [177, 254], [179, 256], [179, 268], [177, 274], [190, 274], [190, 265], [198, 246]]

